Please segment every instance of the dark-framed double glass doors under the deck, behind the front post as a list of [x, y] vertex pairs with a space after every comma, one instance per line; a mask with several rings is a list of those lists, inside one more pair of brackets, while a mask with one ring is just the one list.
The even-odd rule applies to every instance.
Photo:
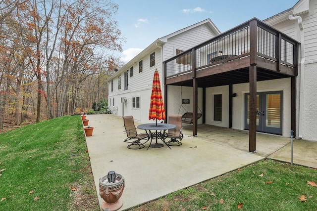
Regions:
[[[245, 93], [245, 129], [249, 129], [250, 94]], [[257, 131], [282, 134], [283, 91], [257, 93]]]

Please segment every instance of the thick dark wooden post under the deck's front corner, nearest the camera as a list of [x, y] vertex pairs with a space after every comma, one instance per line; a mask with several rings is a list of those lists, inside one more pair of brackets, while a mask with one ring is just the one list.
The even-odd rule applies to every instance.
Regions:
[[249, 152], [256, 153], [257, 143], [257, 66], [249, 67], [250, 82], [250, 123], [249, 123]]

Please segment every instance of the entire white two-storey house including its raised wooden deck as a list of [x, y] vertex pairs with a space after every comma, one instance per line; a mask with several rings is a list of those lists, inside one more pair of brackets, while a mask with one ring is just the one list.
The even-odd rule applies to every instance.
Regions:
[[[299, 0], [264, 21], [254, 18], [222, 34], [208, 19], [158, 39], [110, 78], [111, 109], [149, 122], [157, 68], [167, 115], [202, 113], [194, 118], [193, 135], [199, 124], [247, 129], [250, 152], [256, 151], [256, 131], [290, 137], [293, 130], [296, 138], [317, 141], [315, 11], [315, 0]], [[130, 81], [123, 82], [124, 75]], [[117, 89], [120, 76], [127, 90]]]

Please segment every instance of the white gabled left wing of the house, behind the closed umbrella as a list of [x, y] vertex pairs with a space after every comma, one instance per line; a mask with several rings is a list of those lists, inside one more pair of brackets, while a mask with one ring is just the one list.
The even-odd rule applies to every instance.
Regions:
[[112, 114], [132, 115], [140, 122], [152, 122], [149, 108], [154, 71], [159, 71], [164, 92], [162, 62], [219, 34], [211, 20], [206, 19], [150, 44], [108, 79], [108, 105]]

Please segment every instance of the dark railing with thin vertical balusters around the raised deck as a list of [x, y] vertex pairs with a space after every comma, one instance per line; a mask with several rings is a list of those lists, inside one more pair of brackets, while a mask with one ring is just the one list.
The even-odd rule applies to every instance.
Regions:
[[166, 60], [165, 76], [171, 78], [247, 56], [294, 67], [297, 45], [292, 38], [255, 18]]

